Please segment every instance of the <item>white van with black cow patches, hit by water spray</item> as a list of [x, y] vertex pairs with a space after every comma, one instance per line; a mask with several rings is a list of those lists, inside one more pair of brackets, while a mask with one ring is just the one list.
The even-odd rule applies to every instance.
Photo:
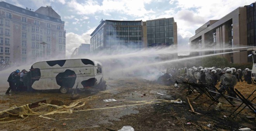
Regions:
[[35, 90], [104, 87], [102, 64], [89, 59], [67, 59], [36, 62], [31, 66], [31, 87]]

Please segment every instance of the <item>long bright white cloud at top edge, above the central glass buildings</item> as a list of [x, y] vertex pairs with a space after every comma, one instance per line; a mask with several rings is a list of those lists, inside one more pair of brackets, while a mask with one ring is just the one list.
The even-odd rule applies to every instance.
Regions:
[[104, 13], [104, 15], [110, 16], [111, 12], [118, 12], [126, 15], [142, 17], [153, 12], [152, 10], [146, 10], [144, 6], [146, 3], [150, 3], [151, 1], [152, 0], [103, 0], [100, 4], [93, 0], [88, 0], [84, 3], [71, 0], [70, 2], [67, 2], [67, 5], [73, 8], [80, 15], [101, 12]]

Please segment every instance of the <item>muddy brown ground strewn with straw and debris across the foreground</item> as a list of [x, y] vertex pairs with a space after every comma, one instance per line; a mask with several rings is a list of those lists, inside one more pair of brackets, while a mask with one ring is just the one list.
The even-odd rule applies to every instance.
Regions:
[[[123, 126], [132, 126], [135, 131], [238, 130], [239, 128], [245, 127], [256, 130], [256, 121], [246, 118], [246, 116], [254, 116], [251, 110], [247, 108], [235, 119], [223, 117], [224, 115], [229, 116], [236, 108], [228, 104], [223, 98], [220, 98], [220, 101], [223, 102], [223, 109], [221, 111], [215, 111], [214, 108], [217, 104], [213, 104], [213, 106], [209, 107], [212, 101], [205, 95], [199, 97], [196, 101], [193, 101], [193, 99], [198, 95], [197, 93], [192, 93], [192, 95], [189, 96], [195, 111], [213, 117], [214, 119], [212, 119], [189, 112], [191, 109], [185, 97], [186, 91], [180, 92], [180, 89], [174, 86], [163, 86], [155, 82], [134, 78], [107, 80], [107, 85], [104, 91], [96, 87], [81, 90], [79, 92], [80, 99], [89, 96], [92, 96], [94, 99], [86, 102], [85, 106], [74, 110], [142, 103], [137, 101], [157, 102], [157, 99], [182, 99], [183, 103], [164, 102], [112, 109], [80, 111], [71, 114], [52, 114], [47, 116], [56, 120], [40, 118], [38, 115], [28, 116], [24, 119], [11, 116], [8, 119], [0, 121], [17, 121], [0, 124], [0, 129], [48, 131], [107, 131], [108, 129], [112, 129], [117, 131]], [[14, 105], [22, 106], [43, 99], [46, 99], [47, 103], [52, 99], [58, 99], [64, 101], [65, 105], [76, 101], [71, 100], [71, 92], [68, 94], [60, 94], [58, 91], [38, 91], [33, 93], [19, 92], [11, 95], [5, 95], [4, 93], [4, 91], [0, 92], [0, 111]], [[143, 94], [145, 94], [145, 96]], [[104, 102], [104, 99], [116, 99], [117, 101]], [[239, 104], [240, 102], [236, 101], [235, 105], [239, 106]], [[33, 108], [33, 111], [47, 110], [42, 107], [36, 107]], [[61, 120], [65, 118], [70, 120]], [[187, 125], [186, 123], [188, 122], [190, 122], [191, 125]], [[66, 125], [64, 126], [63, 123], [66, 123]], [[208, 124], [211, 125], [207, 126]]]

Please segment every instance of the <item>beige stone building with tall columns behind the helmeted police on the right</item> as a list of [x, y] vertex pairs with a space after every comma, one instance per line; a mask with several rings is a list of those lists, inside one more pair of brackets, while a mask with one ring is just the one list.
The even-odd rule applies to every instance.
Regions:
[[[211, 51], [190, 52], [192, 56], [233, 52], [239, 49], [218, 50], [232, 47], [253, 46], [248, 44], [247, 24], [249, 23], [247, 6], [238, 7], [219, 20], [209, 20], [195, 30], [189, 39], [190, 49], [212, 49]], [[247, 63], [247, 52], [234, 52], [221, 55], [231, 63]]]

